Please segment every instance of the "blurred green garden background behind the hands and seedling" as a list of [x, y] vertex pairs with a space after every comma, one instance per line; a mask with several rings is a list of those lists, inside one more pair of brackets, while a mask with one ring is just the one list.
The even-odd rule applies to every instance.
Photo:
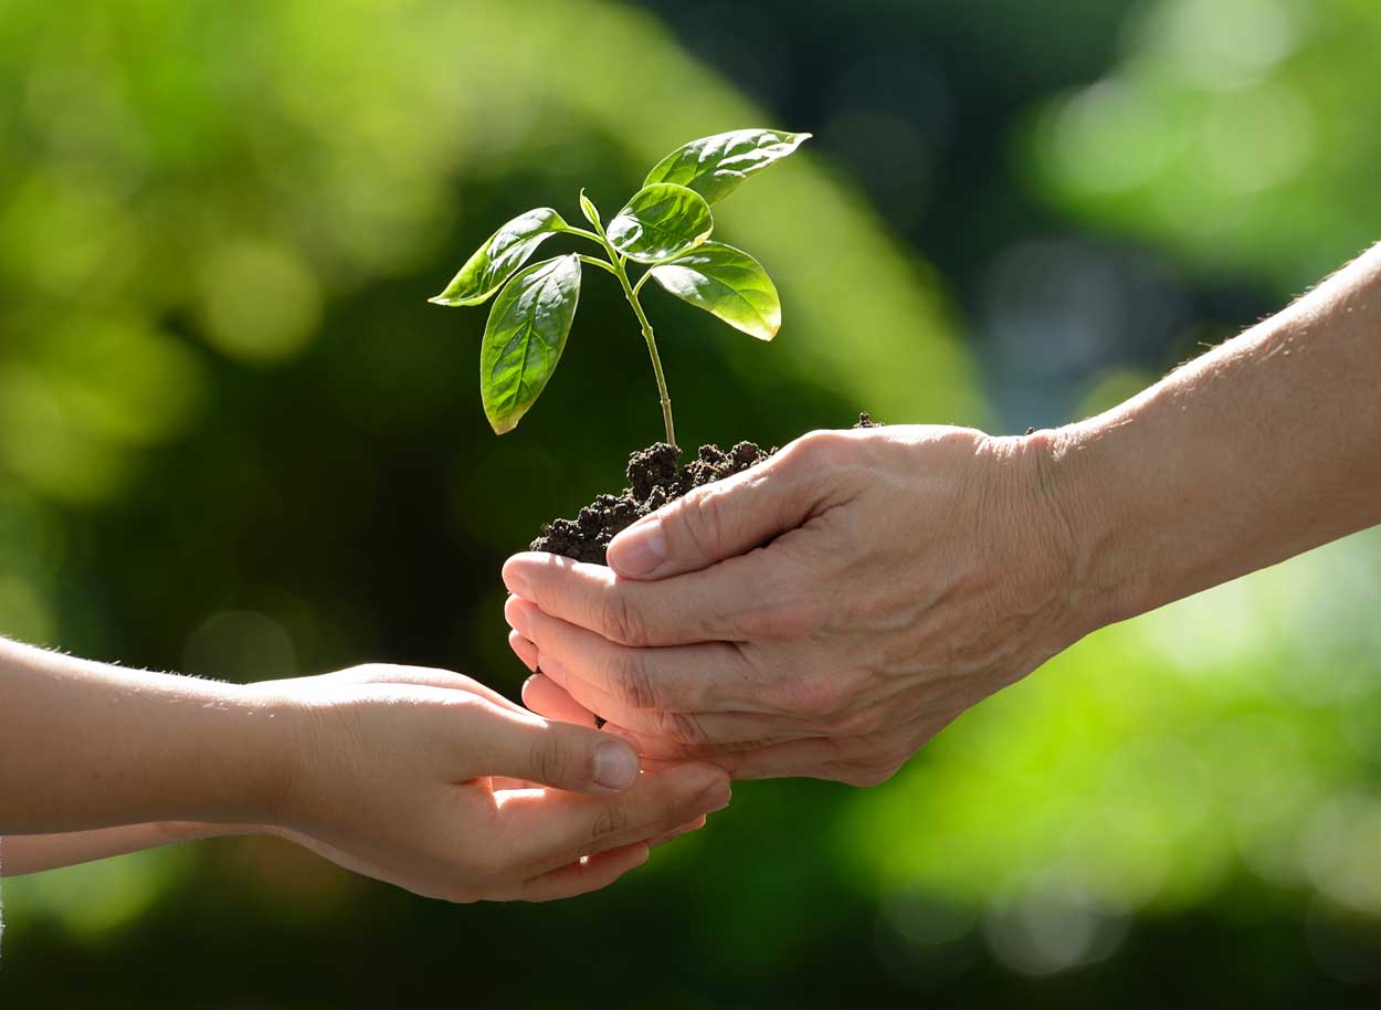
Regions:
[[[1378, 47], [1374, 0], [0, 0], [0, 633], [515, 694], [501, 560], [660, 419], [591, 274], [489, 432], [485, 312], [425, 298], [497, 224], [811, 130], [717, 209], [780, 337], [649, 296], [685, 441], [1058, 424], [1377, 238]], [[1374, 1006], [1378, 854], [1373, 531], [1092, 636], [885, 786], [743, 783], [576, 902], [267, 840], [7, 882], [0, 1003]]]

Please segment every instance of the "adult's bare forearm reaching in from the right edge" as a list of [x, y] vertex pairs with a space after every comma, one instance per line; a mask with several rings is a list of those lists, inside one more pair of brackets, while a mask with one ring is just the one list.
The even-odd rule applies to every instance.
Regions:
[[1034, 438], [1084, 630], [1381, 522], [1381, 246], [1127, 403]]

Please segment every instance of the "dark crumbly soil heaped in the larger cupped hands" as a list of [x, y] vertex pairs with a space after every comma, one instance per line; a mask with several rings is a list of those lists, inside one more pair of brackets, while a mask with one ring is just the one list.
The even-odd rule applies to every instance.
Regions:
[[[853, 427], [878, 426], [866, 413], [860, 413]], [[655, 513], [692, 488], [722, 481], [757, 466], [776, 450], [776, 446], [760, 449], [754, 442], [739, 442], [728, 450], [717, 445], [702, 445], [695, 459], [681, 463], [679, 449], [655, 442], [628, 457], [626, 474], [630, 486], [617, 495], [599, 495], [574, 520], [552, 520], [543, 528], [541, 536], [532, 542], [532, 550], [602, 565], [609, 542], [644, 515]]]

